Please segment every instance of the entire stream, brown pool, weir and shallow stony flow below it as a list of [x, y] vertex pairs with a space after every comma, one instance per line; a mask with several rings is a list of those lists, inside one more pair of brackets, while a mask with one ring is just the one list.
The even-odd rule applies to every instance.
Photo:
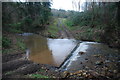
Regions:
[[119, 72], [120, 51], [97, 42], [75, 39], [51, 39], [40, 35], [25, 35], [28, 59], [40, 64], [50, 64], [63, 70], [106, 70]]

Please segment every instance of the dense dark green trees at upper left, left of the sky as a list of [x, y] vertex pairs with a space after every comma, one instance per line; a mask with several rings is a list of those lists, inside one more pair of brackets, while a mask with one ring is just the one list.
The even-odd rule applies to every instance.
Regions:
[[49, 23], [50, 2], [3, 2], [3, 31], [21, 32], [42, 30]]

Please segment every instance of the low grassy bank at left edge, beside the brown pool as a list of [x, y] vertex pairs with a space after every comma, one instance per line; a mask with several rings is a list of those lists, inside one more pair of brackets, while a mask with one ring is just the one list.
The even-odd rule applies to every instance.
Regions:
[[26, 46], [22, 36], [7, 33], [2, 36], [2, 53], [22, 53]]

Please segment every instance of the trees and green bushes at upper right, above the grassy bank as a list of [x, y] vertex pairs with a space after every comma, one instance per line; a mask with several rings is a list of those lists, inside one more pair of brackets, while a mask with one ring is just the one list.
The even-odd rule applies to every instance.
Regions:
[[73, 12], [72, 26], [99, 28], [102, 42], [120, 47], [120, 2], [85, 2], [82, 12]]

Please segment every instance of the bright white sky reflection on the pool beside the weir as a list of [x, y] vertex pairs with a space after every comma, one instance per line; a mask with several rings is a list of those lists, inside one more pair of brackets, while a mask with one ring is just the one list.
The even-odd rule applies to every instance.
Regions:
[[76, 42], [73, 39], [48, 39], [48, 46], [55, 64], [60, 65], [76, 46]]

